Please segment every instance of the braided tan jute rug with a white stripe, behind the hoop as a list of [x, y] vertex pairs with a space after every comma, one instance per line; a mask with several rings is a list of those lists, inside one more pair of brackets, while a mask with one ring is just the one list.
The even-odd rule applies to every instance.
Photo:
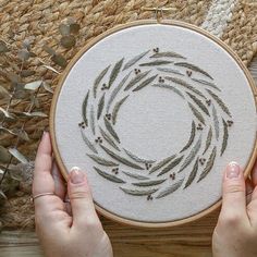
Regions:
[[[154, 13], [143, 11], [142, 7], [175, 8], [178, 11], [166, 12], [164, 19], [180, 20], [204, 27], [230, 45], [245, 64], [250, 62], [257, 51], [256, 0], [1, 0], [0, 39], [10, 42], [13, 48], [21, 46], [24, 39], [29, 39], [32, 50], [47, 63], [50, 60], [41, 48], [44, 44], [58, 49], [58, 52], [64, 53], [70, 60], [82, 46], [115, 25], [152, 19]], [[61, 37], [58, 27], [66, 17], [74, 17], [81, 25], [76, 47], [69, 51], [58, 46]], [[13, 40], [9, 40], [10, 37]], [[54, 66], [53, 63], [50, 64]], [[36, 76], [30, 76], [29, 81], [38, 79], [40, 76], [45, 79], [52, 78], [52, 73], [40, 68], [38, 61], [35, 60], [30, 68], [36, 71]], [[58, 79], [59, 76], [54, 77], [53, 88]], [[45, 113], [49, 113], [50, 102], [49, 95], [39, 95], [39, 103], [44, 103], [40, 105], [40, 110]], [[22, 109], [24, 105], [21, 103], [19, 108]], [[20, 146], [25, 156], [35, 155], [40, 132], [47, 125], [48, 119], [34, 118], [26, 123], [26, 131], [32, 140]], [[19, 127], [17, 124], [14, 126]], [[0, 139], [4, 146], [14, 143], [10, 135], [1, 135]]]

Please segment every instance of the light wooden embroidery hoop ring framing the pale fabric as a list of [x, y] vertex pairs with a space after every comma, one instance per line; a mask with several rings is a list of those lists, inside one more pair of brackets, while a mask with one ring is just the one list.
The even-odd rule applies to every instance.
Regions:
[[[227, 46], [222, 40], [220, 40], [219, 38], [217, 38], [216, 36], [209, 34], [208, 32], [195, 26], [195, 25], [191, 25], [184, 22], [179, 22], [179, 21], [172, 21], [172, 20], [162, 20], [161, 23], [157, 22], [157, 21], [151, 21], [151, 20], [142, 20], [142, 21], [136, 21], [136, 22], [132, 22], [132, 23], [127, 23], [127, 24], [122, 24], [122, 25], [118, 25], [107, 32], [105, 32], [103, 34], [97, 36], [96, 38], [94, 38], [93, 40], [90, 40], [86, 46], [84, 46], [77, 53], [76, 56], [71, 60], [71, 62], [68, 64], [66, 69], [64, 70], [58, 86], [54, 90], [53, 94], [53, 98], [52, 98], [52, 102], [51, 102], [51, 109], [50, 109], [50, 135], [51, 135], [51, 140], [52, 140], [52, 148], [53, 148], [53, 154], [58, 163], [58, 167], [62, 173], [62, 175], [64, 176], [65, 180], [68, 180], [68, 172], [65, 170], [65, 167], [62, 162], [62, 159], [60, 157], [60, 152], [58, 150], [58, 146], [57, 146], [57, 139], [56, 139], [56, 134], [54, 134], [54, 113], [56, 113], [56, 107], [57, 107], [57, 101], [58, 101], [58, 97], [59, 94], [61, 91], [62, 85], [69, 74], [69, 72], [71, 71], [71, 69], [73, 68], [73, 65], [77, 62], [77, 60], [84, 54], [84, 52], [86, 52], [88, 49], [90, 49], [94, 45], [96, 45], [99, 40], [103, 39], [105, 37], [128, 28], [128, 27], [134, 27], [134, 26], [138, 26], [138, 25], [149, 25], [149, 24], [164, 24], [164, 25], [173, 25], [173, 26], [179, 26], [179, 27], [184, 27], [184, 28], [188, 28], [192, 29], [194, 32], [197, 32], [206, 37], [208, 37], [209, 39], [211, 39], [212, 41], [217, 42], [220, 47], [222, 47], [234, 60], [235, 62], [238, 64], [238, 66], [243, 70], [245, 76], [247, 77], [248, 84], [250, 86], [252, 93], [253, 93], [253, 97], [255, 98], [255, 107], [257, 108], [257, 89], [255, 87], [255, 81], [252, 77], [250, 73], [248, 72], [247, 68], [244, 65], [244, 63], [242, 62], [242, 60], [238, 58], [238, 56], [229, 47]], [[255, 143], [254, 143], [254, 147], [253, 147], [253, 151], [252, 151], [252, 156], [249, 157], [248, 163], [245, 168], [244, 171], [244, 176], [247, 178], [250, 173], [250, 170], [254, 166], [254, 162], [257, 158], [257, 137], [255, 138]], [[181, 224], [185, 224], [188, 222], [193, 222], [196, 221], [207, 215], [209, 215], [210, 212], [212, 212], [213, 210], [218, 209], [221, 206], [221, 199], [219, 199], [217, 203], [215, 203], [212, 206], [210, 206], [209, 208], [203, 210], [201, 212], [191, 216], [188, 218], [182, 219], [182, 220], [175, 220], [175, 221], [167, 221], [167, 222], [142, 222], [142, 221], [136, 221], [136, 220], [130, 220], [130, 219], [125, 219], [121, 216], [114, 215], [108, 210], [106, 210], [105, 208], [100, 207], [99, 205], [95, 204], [96, 210], [113, 220], [123, 224], [127, 224], [127, 225], [133, 225], [133, 227], [140, 227], [140, 228], [149, 228], [149, 229], [160, 229], [160, 228], [169, 228], [169, 227], [176, 227], [176, 225], [181, 225]]]

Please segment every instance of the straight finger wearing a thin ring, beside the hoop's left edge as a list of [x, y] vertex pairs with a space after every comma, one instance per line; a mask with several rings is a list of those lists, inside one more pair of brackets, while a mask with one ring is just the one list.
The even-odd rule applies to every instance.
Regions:
[[[49, 133], [45, 132], [39, 144], [35, 160], [35, 171], [33, 180], [33, 195], [52, 193], [54, 194], [54, 181], [51, 175], [52, 149]], [[63, 203], [56, 195], [45, 195], [34, 201], [36, 213], [44, 216], [51, 210], [62, 210]]]

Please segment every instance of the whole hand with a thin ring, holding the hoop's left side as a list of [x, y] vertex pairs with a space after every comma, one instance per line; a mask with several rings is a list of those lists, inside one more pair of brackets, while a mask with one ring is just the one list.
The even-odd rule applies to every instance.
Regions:
[[112, 247], [96, 213], [85, 173], [78, 168], [65, 185], [56, 163], [49, 133], [44, 133], [35, 161], [33, 195], [36, 232], [47, 257], [110, 257]]

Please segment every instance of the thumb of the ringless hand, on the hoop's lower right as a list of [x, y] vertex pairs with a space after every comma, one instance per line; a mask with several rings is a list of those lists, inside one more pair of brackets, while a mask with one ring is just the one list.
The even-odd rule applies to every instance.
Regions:
[[225, 220], [246, 218], [246, 188], [243, 170], [236, 162], [227, 166], [220, 216]]

